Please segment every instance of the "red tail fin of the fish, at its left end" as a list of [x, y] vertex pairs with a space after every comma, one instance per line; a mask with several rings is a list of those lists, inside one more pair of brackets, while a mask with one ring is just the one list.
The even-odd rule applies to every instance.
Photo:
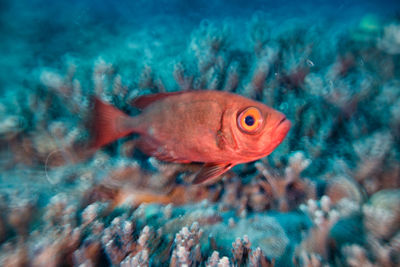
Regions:
[[98, 149], [118, 138], [124, 137], [134, 131], [128, 127], [131, 117], [113, 107], [112, 105], [94, 98], [94, 116], [92, 121], [92, 148]]

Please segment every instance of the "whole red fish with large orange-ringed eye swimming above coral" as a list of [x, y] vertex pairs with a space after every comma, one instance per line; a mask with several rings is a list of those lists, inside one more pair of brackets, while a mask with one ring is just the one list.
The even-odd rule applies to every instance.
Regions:
[[138, 116], [95, 100], [94, 147], [138, 133], [138, 148], [149, 156], [204, 163], [195, 184], [216, 180], [239, 163], [269, 155], [291, 126], [277, 110], [222, 91], [145, 95], [132, 104], [142, 110]]

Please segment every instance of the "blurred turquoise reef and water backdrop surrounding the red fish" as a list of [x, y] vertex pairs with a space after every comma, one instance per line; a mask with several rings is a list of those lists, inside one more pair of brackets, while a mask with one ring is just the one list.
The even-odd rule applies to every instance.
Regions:
[[[1, 1], [0, 265], [398, 265], [399, 14]], [[158, 161], [137, 134], [90, 149], [94, 96], [134, 116], [138, 96], [209, 89], [281, 111], [289, 134], [206, 186], [201, 163]]]

